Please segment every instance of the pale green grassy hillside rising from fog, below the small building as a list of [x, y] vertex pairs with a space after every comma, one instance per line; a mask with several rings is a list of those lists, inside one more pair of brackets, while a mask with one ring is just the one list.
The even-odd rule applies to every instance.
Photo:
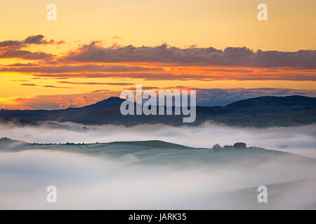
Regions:
[[[291, 162], [308, 162], [314, 164], [316, 160], [304, 158], [291, 153], [259, 149], [235, 149], [213, 151], [210, 148], [191, 148], [172, 144], [165, 141], [115, 141], [98, 144], [29, 144], [24, 141], [0, 139], [0, 151], [67, 151], [85, 153], [89, 155], [105, 155], [111, 158], [123, 158], [133, 156], [140, 163], [175, 164], [177, 162], [195, 162], [212, 164], [239, 163], [259, 164], [265, 160], [278, 160], [286, 158]], [[132, 160], [134, 161], [134, 160]], [[316, 163], [315, 163], [316, 164]]]

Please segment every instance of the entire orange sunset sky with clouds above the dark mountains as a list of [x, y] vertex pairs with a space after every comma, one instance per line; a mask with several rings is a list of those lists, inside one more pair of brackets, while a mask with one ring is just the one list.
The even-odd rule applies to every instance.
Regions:
[[[48, 21], [48, 3], [57, 20]], [[268, 21], [257, 18], [259, 3]], [[65, 109], [136, 84], [224, 105], [316, 97], [314, 0], [3, 0], [0, 108]]]

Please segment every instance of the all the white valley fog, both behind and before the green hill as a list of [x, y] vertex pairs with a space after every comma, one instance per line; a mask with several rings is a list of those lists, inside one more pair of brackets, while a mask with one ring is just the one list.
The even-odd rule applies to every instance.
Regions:
[[[95, 143], [162, 140], [210, 148], [246, 142], [316, 158], [316, 125], [237, 128], [213, 123], [168, 125], [0, 125], [0, 137], [37, 143]], [[14, 143], [17, 144], [17, 143]], [[0, 153], [0, 209], [315, 209], [315, 160], [297, 155], [242, 155], [236, 151], [188, 166], [138, 163], [139, 154], [121, 158], [55, 150]], [[32, 148], [30, 148], [32, 149]], [[57, 151], [58, 150], [58, 151]], [[271, 151], [272, 152], [272, 151]], [[197, 151], [199, 153], [199, 151]], [[169, 156], [168, 151], [162, 152]], [[201, 154], [202, 156], [204, 154]], [[218, 154], [217, 154], [218, 155]], [[150, 155], [146, 155], [150, 156]], [[172, 158], [172, 157], [171, 157]], [[183, 157], [185, 158], [185, 156]], [[216, 158], [216, 159], [212, 159]], [[159, 161], [161, 161], [159, 160]], [[202, 160], [201, 160], [202, 161]], [[310, 162], [312, 161], [312, 162]], [[268, 186], [268, 203], [258, 203], [257, 187]], [[46, 202], [56, 186], [58, 202]]]

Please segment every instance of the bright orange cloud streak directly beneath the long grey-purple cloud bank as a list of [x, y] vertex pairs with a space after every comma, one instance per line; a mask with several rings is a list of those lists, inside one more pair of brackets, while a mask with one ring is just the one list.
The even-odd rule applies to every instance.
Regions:
[[316, 80], [313, 69], [179, 66], [169, 64], [37, 64], [1, 66], [0, 71], [51, 78], [140, 78], [143, 80]]

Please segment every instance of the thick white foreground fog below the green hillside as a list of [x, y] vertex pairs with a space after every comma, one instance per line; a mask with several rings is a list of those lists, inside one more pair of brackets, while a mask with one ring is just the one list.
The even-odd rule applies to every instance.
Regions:
[[[254, 167], [188, 168], [60, 151], [0, 153], [0, 209], [315, 209], [316, 181], [305, 180], [315, 163], [289, 164], [287, 156]], [[301, 181], [270, 186], [294, 180]], [[260, 185], [268, 186], [268, 203], [257, 201]], [[46, 202], [47, 186], [57, 188], [57, 203]]]

